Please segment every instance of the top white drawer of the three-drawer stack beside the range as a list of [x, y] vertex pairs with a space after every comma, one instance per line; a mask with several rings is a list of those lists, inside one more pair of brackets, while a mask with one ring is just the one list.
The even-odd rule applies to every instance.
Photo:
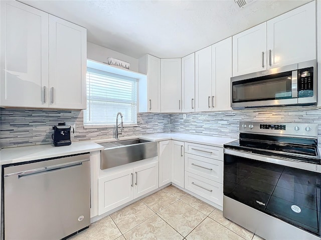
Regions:
[[223, 161], [222, 147], [185, 142], [185, 152]]

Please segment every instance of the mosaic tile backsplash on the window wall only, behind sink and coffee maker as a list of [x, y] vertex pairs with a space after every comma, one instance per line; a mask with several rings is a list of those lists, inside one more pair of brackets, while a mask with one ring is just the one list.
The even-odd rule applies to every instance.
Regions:
[[[0, 109], [0, 147], [52, 143], [52, 127], [59, 122], [76, 122], [71, 141], [113, 137], [115, 128], [84, 128], [82, 110]], [[115, 119], [116, 122], [116, 119]], [[124, 136], [170, 131], [170, 115], [138, 113], [137, 126], [124, 128]]]

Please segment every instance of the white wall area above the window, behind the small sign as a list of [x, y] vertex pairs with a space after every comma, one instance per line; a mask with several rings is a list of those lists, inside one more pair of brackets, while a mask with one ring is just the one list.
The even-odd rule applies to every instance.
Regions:
[[138, 72], [138, 59], [127, 56], [118, 51], [96, 45], [92, 42], [87, 41], [87, 58], [99, 62], [107, 62], [107, 57], [114, 57], [119, 60], [127, 61], [130, 63], [129, 70]]

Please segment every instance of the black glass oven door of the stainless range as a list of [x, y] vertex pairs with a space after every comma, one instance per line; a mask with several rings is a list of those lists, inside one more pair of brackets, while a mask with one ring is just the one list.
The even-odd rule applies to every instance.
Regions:
[[224, 153], [224, 195], [319, 236], [321, 173], [240, 155]]

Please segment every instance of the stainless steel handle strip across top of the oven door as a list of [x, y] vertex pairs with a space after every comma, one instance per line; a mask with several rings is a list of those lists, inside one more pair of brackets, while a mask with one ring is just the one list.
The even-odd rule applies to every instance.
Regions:
[[245, 157], [253, 160], [265, 161], [265, 162], [275, 163], [278, 165], [290, 166], [290, 167], [295, 167], [295, 168], [300, 168], [308, 171], [315, 171], [315, 172], [321, 173], [321, 165], [302, 162], [302, 161], [295, 161], [295, 160], [291, 160], [283, 157], [266, 156], [262, 154], [227, 149], [227, 148], [224, 148], [224, 154], [230, 154], [230, 155]]

